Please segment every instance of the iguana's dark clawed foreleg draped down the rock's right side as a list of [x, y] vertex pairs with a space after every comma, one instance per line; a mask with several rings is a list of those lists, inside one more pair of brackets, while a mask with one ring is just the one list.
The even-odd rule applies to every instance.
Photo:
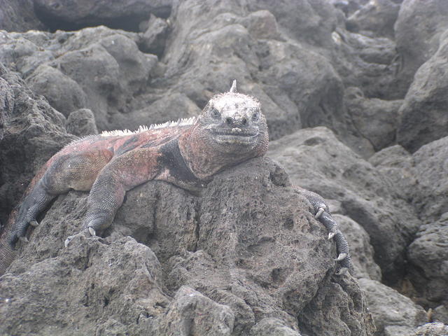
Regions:
[[335, 261], [339, 262], [342, 269], [340, 272], [344, 272], [346, 269], [351, 268], [351, 258], [349, 253], [349, 244], [346, 238], [337, 228], [336, 221], [332, 218], [328, 204], [323, 200], [321, 195], [313, 193], [312, 191], [295, 187], [295, 191], [300, 195], [307, 198], [311, 206], [314, 208], [314, 214], [325, 228], [328, 229], [328, 239], [334, 239], [336, 243], [337, 258]]

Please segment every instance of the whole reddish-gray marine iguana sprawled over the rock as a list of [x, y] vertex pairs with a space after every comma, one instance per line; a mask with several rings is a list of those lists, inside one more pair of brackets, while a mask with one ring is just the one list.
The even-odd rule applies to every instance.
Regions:
[[[17, 241], [27, 241], [29, 225], [52, 199], [69, 190], [90, 190], [81, 232], [96, 235], [111, 225], [127, 190], [150, 180], [186, 190], [204, 187], [223, 169], [265, 155], [269, 137], [257, 99], [236, 92], [212, 97], [197, 118], [112, 131], [73, 141], [48, 160], [31, 180], [20, 206], [0, 237], [0, 275], [13, 261]], [[323, 198], [302, 188], [316, 218], [334, 237], [342, 269], [349, 269], [349, 247]], [[74, 236], [68, 237], [65, 245]]]

